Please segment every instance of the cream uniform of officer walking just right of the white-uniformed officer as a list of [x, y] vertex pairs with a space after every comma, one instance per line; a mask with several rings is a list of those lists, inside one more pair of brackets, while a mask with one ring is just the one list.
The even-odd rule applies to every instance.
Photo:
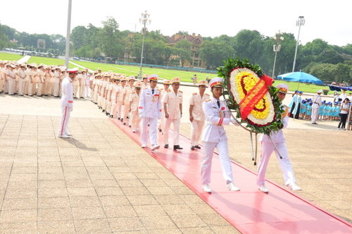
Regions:
[[167, 111], [169, 114], [169, 118], [165, 118], [164, 120], [164, 145], [169, 144], [169, 130], [171, 123], [173, 124], [173, 145], [179, 145], [180, 123], [182, 117], [182, 110], [180, 110], [180, 104], [182, 104], [182, 99], [182, 91], [177, 90], [177, 93], [175, 93], [172, 89], [168, 90], [168, 92], [165, 92], [165, 95], [163, 97], [163, 104], [166, 104]]

